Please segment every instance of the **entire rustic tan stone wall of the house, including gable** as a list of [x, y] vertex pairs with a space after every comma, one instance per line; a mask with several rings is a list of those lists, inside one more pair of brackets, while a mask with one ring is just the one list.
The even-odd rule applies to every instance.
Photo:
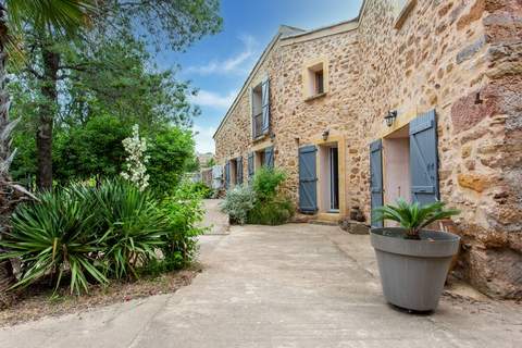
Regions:
[[[252, 86], [271, 76], [271, 141], [288, 191], [297, 200], [298, 148], [330, 129], [345, 140], [347, 209], [368, 220], [369, 144], [386, 130], [383, 116], [435, 109], [440, 198], [462, 211], [458, 274], [488, 295], [522, 297], [521, 17], [518, 0], [419, 0], [396, 28], [389, 2], [368, 0], [357, 29], [278, 40]], [[303, 64], [318, 57], [330, 90], [306, 101]], [[220, 163], [256, 146], [249, 94], [215, 141]]]

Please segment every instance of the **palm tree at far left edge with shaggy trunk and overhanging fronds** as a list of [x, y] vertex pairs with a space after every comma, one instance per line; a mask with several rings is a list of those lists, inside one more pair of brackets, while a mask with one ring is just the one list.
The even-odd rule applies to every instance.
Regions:
[[[9, 167], [14, 157], [11, 151], [11, 132], [16, 122], [9, 119], [10, 100], [5, 90], [5, 63], [9, 47], [16, 46], [20, 27], [29, 20], [35, 27], [52, 30], [57, 35], [75, 33], [87, 23], [91, 11], [90, 0], [1, 0], [0, 1], [0, 223], [8, 228], [8, 219], [22, 190], [12, 183]], [[12, 268], [9, 261], [0, 263], [0, 291], [12, 282]], [[1, 300], [1, 299], [0, 299]]]

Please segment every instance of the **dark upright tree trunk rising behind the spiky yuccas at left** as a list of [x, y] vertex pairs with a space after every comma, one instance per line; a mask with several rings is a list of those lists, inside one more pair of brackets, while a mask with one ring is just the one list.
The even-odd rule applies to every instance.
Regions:
[[58, 105], [58, 71], [60, 54], [53, 52], [46, 44], [41, 47], [44, 62], [44, 84], [41, 94], [46, 101], [40, 105], [36, 149], [38, 161], [37, 185], [40, 189], [52, 188], [52, 123]]

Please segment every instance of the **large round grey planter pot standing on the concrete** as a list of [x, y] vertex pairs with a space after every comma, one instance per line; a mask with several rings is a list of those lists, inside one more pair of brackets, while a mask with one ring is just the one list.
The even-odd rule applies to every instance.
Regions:
[[[451, 258], [460, 237], [445, 232], [422, 231], [423, 240], [403, 239], [403, 228], [372, 228], [386, 300], [414, 311], [433, 311], [438, 306]], [[432, 240], [426, 240], [427, 238]]]

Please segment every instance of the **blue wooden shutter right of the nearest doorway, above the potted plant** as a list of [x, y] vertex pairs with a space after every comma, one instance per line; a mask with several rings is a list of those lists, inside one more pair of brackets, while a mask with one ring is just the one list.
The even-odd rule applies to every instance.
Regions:
[[435, 110], [410, 122], [410, 174], [413, 201], [426, 204], [439, 199]]

